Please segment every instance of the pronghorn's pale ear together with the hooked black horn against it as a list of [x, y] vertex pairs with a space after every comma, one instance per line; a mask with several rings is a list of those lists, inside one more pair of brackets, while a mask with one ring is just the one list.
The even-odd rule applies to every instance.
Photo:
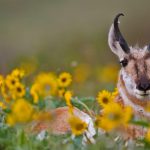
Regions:
[[124, 14], [118, 14], [114, 22], [109, 30], [108, 34], [108, 44], [111, 50], [119, 57], [122, 57], [124, 54], [130, 53], [130, 48], [128, 47], [127, 42], [123, 38], [119, 27], [118, 27], [118, 19], [120, 16], [124, 16]]

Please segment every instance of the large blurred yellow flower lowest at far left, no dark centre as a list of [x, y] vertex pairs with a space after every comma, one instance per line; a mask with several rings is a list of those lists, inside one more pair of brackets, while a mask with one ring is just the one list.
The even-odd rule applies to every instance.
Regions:
[[26, 123], [31, 121], [34, 109], [25, 99], [18, 99], [12, 105], [12, 112], [7, 116], [7, 123]]

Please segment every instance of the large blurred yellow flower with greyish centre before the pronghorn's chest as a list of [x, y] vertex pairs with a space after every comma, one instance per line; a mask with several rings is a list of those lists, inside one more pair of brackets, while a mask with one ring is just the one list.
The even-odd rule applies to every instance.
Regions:
[[96, 124], [106, 131], [115, 129], [121, 125], [127, 125], [132, 117], [131, 107], [126, 106], [122, 108], [117, 103], [111, 103], [111, 105], [105, 106], [102, 111], [102, 116], [99, 116], [96, 120]]

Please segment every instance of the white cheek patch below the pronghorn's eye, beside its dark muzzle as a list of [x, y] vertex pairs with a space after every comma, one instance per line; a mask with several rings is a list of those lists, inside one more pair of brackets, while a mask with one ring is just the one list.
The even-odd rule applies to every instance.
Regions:
[[121, 75], [122, 75], [127, 91], [129, 92], [129, 94], [135, 96], [136, 84], [123, 69], [121, 70]]

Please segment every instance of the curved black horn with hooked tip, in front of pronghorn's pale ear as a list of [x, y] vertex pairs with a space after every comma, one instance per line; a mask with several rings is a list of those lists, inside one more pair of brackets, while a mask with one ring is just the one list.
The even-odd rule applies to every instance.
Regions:
[[124, 16], [124, 14], [123, 13], [119, 13], [114, 19], [114, 35], [115, 35], [116, 41], [119, 42], [119, 44], [120, 44], [121, 48], [123, 49], [123, 51], [125, 53], [129, 53], [130, 52], [130, 48], [129, 48], [127, 42], [125, 41], [125, 39], [123, 38], [123, 36], [122, 36], [122, 34], [120, 32], [120, 29], [118, 27], [118, 24], [119, 24], [118, 23], [118, 19], [119, 19], [120, 16]]

